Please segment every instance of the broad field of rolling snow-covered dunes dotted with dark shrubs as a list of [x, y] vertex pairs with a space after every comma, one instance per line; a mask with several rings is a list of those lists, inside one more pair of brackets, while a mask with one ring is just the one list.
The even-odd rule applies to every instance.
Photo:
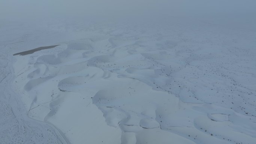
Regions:
[[196, 27], [87, 29], [15, 56], [13, 88], [74, 144], [255, 144], [252, 33]]

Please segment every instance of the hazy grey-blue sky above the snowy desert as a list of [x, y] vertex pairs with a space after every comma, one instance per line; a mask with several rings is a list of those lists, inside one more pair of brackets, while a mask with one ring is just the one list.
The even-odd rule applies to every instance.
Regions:
[[256, 0], [0, 0], [0, 19], [255, 16]]

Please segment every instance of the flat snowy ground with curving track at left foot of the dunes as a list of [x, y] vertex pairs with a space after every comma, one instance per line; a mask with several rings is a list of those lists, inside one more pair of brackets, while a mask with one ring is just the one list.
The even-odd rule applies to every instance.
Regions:
[[68, 144], [49, 123], [29, 119], [24, 104], [12, 91], [12, 59], [0, 54], [0, 144]]

